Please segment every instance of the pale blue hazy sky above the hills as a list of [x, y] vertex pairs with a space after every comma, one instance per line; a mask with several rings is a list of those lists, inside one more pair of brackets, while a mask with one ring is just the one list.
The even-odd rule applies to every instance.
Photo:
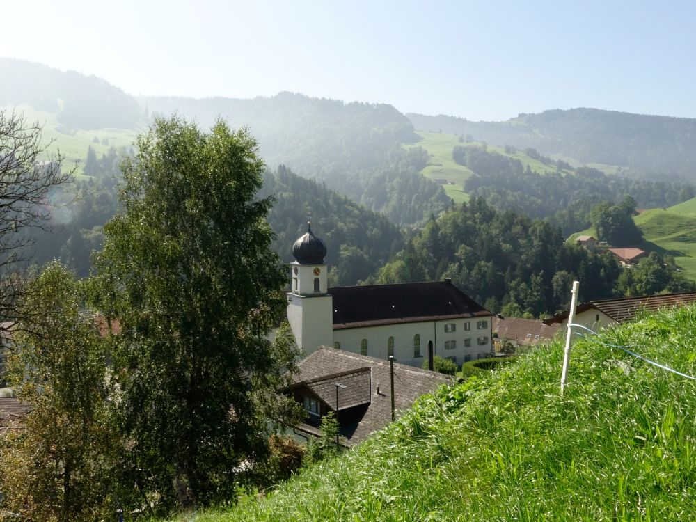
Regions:
[[133, 95], [696, 118], [693, 1], [2, 0], [0, 13], [0, 56]]

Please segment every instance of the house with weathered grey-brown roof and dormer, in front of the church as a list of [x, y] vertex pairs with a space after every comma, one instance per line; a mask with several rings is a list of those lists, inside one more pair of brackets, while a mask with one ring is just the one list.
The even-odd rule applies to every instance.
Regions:
[[[452, 377], [394, 363], [395, 413], [409, 409], [418, 397], [431, 393]], [[333, 412], [340, 426], [340, 443], [354, 446], [391, 420], [390, 363], [381, 358], [321, 347], [299, 362], [291, 393], [304, 405], [307, 417], [293, 427], [296, 436], [319, 436], [322, 417]]]

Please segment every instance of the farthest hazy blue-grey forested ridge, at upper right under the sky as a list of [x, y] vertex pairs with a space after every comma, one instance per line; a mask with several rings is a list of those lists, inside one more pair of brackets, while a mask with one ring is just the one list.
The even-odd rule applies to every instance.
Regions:
[[469, 135], [493, 145], [535, 148], [588, 164], [622, 166], [635, 175], [696, 179], [696, 119], [599, 109], [555, 109], [504, 122], [453, 116], [406, 116], [423, 131]]

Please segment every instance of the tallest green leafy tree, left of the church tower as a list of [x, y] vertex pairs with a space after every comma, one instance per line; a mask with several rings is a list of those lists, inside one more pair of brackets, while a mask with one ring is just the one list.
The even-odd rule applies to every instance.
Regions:
[[122, 326], [124, 473], [163, 509], [229, 499], [289, 404], [274, 390], [296, 355], [267, 338], [285, 273], [271, 200], [256, 197], [264, 164], [248, 132], [221, 121], [205, 134], [156, 120], [136, 145], [95, 260], [102, 309]]

